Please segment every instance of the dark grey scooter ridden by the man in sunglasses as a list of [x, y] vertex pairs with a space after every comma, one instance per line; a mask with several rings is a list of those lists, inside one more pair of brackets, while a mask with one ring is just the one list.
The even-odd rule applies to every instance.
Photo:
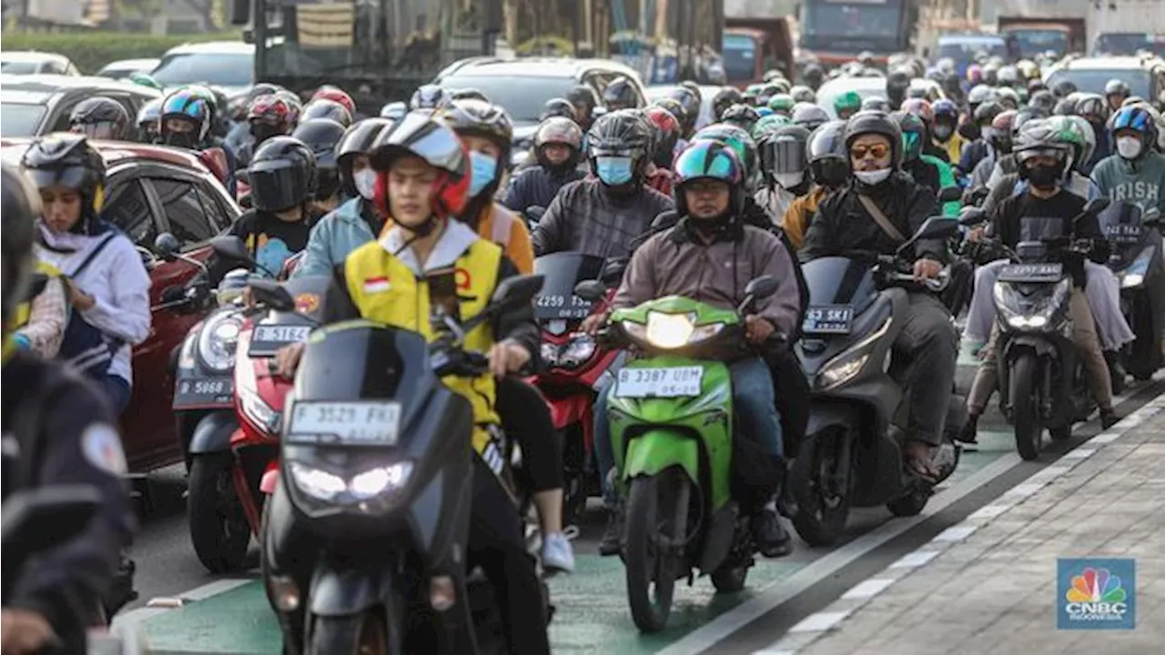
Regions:
[[[903, 463], [908, 435], [901, 425], [909, 424], [910, 403], [901, 381], [910, 369], [908, 361], [891, 357], [910, 302], [903, 287], [919, 284], [902, 254], [919, 239], [946, 238], [956, 230], [956, 219], [931, 217], [894, 255], [854, 253], [803, 266], [810, 307], [796, 352], [810, 381], [811, 413], [790, 471], [790, 491], [799, 506], [793, 527], [810, 545], [836, 542], [854, 506], [885, 505], [897, 516], [918, 514], [934, 486], [959, 465], [954, 437], [967, 416], [953, 388], [932, 460], [938, 479], [923, 479]], [[876, 261], [873, 267], [870, 260]], [[926, 287], [939, 294], [946, 282], [940, 275]]]

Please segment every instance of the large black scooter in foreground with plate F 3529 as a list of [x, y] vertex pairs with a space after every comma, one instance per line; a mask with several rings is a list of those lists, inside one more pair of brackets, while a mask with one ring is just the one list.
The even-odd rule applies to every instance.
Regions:
[[[260, 542], [287, 652], [496, 652], [496, 603], [488, 585], [468, 584], [467, 481], [480, 455], [514, 493], [507, 439], [492, 432], [475, 445], [471, 406], [442, 378], [488, 371], [482, 353], [464, 350], [465, 334], [530, 303], [541, 284], [513, 277], [480, 315], [435, 318], [447, 330], [433, 344], [367, 321], [308, 339]], [[283, 288], [253, 289], [280, 311], [295, 308]]]

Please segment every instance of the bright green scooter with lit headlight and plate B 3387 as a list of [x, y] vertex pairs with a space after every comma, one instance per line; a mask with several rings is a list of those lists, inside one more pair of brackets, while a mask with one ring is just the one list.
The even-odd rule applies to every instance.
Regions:
[[[579, 295], [593, 296], [593, 283]], [[669, 296], [612, 314], [602, 341], [634, 346], [608, 416], [617, 484], [627, 499], [623, 563], [631, 618], [662, 631], [678, 578], [709, 573], [720, 592], [744, 587], [751, 531], [730, 495], [733, 403], [728, 354], [741, 353], [744, 311], [777, 281], [748, 283], [737, 311]], [[654, 590], [652, 590], [654, 585]]]

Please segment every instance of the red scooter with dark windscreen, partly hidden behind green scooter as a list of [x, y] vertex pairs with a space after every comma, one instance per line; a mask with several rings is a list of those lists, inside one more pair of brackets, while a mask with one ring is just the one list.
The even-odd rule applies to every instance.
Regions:
[[[542, 275], [542, 291], [535, 298], [535, 317], [542, 328], [542, 360], [545, 369], [528, 381], [542, 392], [550, 406], [556, 438], [563, 444], [563, 521], [571, 523], [599, 495], [601, 486], [594, 466], [593, 411], [595, 389], [620, 357], [603, 350], [593, 337], [579, 332], [587, 316], [603, 311], [622, 279], [626, 263], [607, 263], [581, 253], [553, 253], [534, 261]], [[574, 293], [579, 283], [602, 284], [606, 300], [591, 303]]]

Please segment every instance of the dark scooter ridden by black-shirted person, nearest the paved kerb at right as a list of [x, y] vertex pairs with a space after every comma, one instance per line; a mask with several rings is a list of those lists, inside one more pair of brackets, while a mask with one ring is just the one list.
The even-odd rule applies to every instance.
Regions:
[[[1073, 223], [1108, 205], [1107, 198], [1089, 200]], [[1039, 457], [1044, 428], [1052, 439], [1066, 439], [1073, 423], [1087, 420], [1094, 409], [1072, 343], [1072, 276], [1057, 256], [1061, 251], [1082, 260], [1089, 247], [1062, 238], [1021, 242], [1012, 253], [1016, 263], [1004, 266], [995, 281], [1000, 396], [1015, 425], [1016, 449], [1026, 460]]]

